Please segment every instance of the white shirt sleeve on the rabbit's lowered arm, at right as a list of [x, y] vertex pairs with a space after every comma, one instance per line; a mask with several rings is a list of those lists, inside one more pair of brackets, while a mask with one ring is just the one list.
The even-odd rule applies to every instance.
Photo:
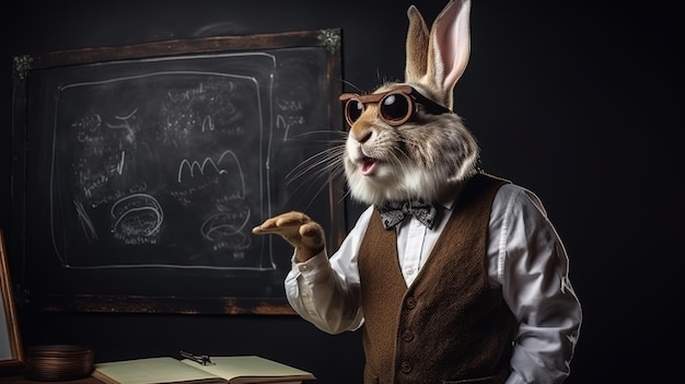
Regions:
[[500, 189], [490, 225], [498, 281], [519, 321], [507, 384], [562, 383], [582, 314], [561, 240], [537, 196], [514, 185]]

